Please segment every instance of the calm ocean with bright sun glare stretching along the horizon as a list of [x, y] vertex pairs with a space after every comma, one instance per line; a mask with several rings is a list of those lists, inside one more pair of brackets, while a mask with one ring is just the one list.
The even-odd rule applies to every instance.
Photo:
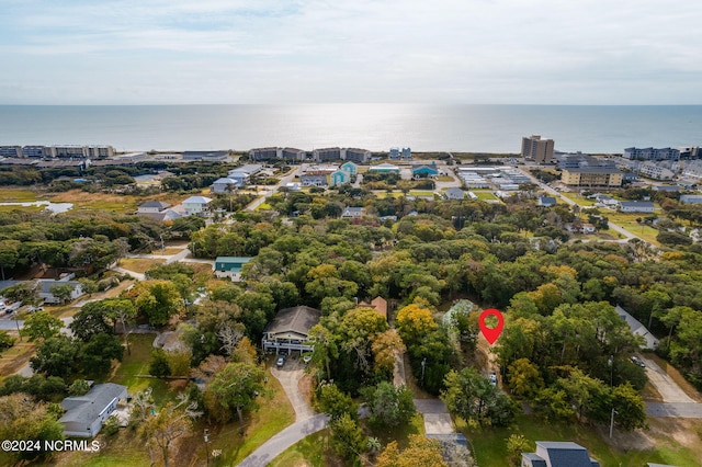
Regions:
[[702, 105], [0, 105], [0, 145], [112, 145], [117, 151], [341, 146], [519, 152], [521, 137], [556, 150], [702, 145]]

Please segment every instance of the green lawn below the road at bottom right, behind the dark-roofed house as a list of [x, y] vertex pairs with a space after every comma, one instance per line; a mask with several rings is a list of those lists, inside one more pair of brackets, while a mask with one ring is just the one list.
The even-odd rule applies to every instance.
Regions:
[[598, 459], [602, 467], [643, 466], [646, 463], [699, 465], [699, 453], [670, 438], [656, 440], [657, 448], [654, 449], [618, 449], [607, 444], [591, 428], [544, 422], [533, 415], [519, 415], [516, 425], [509, 429], [468, 429], [463, 421], [457, 422], [458, 430], [473, 446], [475, 460], [480, 467], [509, 465], [507, 438], [513, 433], [523, 434], [532, 443], [532, 449], [535, 449], [536, 441], [574, 441], [587, 447], [589, 454]]

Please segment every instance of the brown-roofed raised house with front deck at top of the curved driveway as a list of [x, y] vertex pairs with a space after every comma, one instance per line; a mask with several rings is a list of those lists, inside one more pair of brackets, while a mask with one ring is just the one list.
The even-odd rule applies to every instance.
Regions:
[[309, 342], [309, 330], [319, 322], [320, 317], [321, 311], [304, 305], [280, 310], [263, 330], [263, 351], [299, 351], [302, 354], [314, 350]]

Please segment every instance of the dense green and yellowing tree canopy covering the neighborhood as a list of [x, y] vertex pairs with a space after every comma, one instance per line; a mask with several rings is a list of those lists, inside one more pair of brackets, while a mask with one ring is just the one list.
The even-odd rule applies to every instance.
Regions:
[[[121, 176], [136, 172], [107, 173], [89, 175], [114, 179], [102, 185], [112, 191], [118, 180], [126, 182]], [[165, 190], [200, 193], [203, 176], [179, 173]], [[689, 234], [702, 218], [698, 208], [669, 195], [657, 197], [667, 219], [655, 227], [646, 217], [634, 220], [658, 232], [656, 249], [637, 239], [579, 241], [565, 228], [587, 220], [605, 229], [608, 218], [620, 219], [616, 214], [542, 207], [529, 192], [503, 203], [410, 198], [404, 193], [409, 186], [400, 182], [383, 175], [370, 176], [360, 187], [281, 190], [257, 212], [242, 209], [254, 194], [229, 193], [216, 203], [234, 214], [207, 224], [192, 217], [165, 225], [92, 210], [0, 213], [0, 266], [8, 276], [73, 272], [97, 292], [114, 286], [100, 284], [113, 277], [106, 270], [116, 262], [145, 274], [118, 296], [73, 310], [71, 337], [59, 333], [63, 323], [53, 310], [27, 317], [23, 337], [35, 345], [31, 365], [36, 375], [4, 378], [0, 398], [25, 394], [36, 403], [57, 402], [83, 379], [125, 384], [131, 394], [144, 395], [154, 413], [133, 419], [131, 431], [105, 433], [120, 440], [114, 445], [128, 451], [123, 442], [133, 440], [151, 446], [151, 456], [163, 462], [179, 456], [203, 460], [210, 452], [188, 445], [195, 438], [201, 443], [196, 433], [207, 428], [220, 459], [239, 462], [294, 419], [254, 343], [278, 311], [298, 305], [321, 311], [310, 332], [315, 346], [307, 372], [310, 401], [331, 418], [318, 435], [327, 448], [313, 449], [327, 460], [394, 465], [403, 456], [431, 456], [435, 446], [409, 437], [421, 433], [414, 428], [418, 417], [411, 403], [420, 394], [446, 403], [458, 429], [475, 440], [478, 464], [503, 463], [505, 440], [546, 424], [558, 426], [554, 437], [573, 435], [591, 444], [598, 456], [621, 459], [621, 453], [593, 442], [592, 433], [610, 423], [613, 407], [625, 408], [614, 419], [621, 432], [645, 429], [650, 419], [642, 396], [646, 376], [631, 360], [641, 340], [614, 305], [658, 335], [656, 352], [702, 388], [702, 293], [697, 286], [702, 251]], [[398, 195], [381, 196], [371, 190], [373, 183], [394, 185]], [[412, 185], [418, 189], [424, 186]], [[138, 196], [112, 195], [117, 203]], [[627, 190], [621, 196], [647, 193]], [[23, 190], [15, 197], [31, 198]], [[362, 207], [364, 215], [340, 218], [348, 206]], [[162, 238], [188, 239], [200, 259], [251, 261], [241, 271], [242, 282], [231, 283], [214, 278], [210, 266], [124, 260], [131, 252], [152, 250]], [[64, 299], [70, 295], [54, 293]], [[36, 300], [31, 286], [4, 294]], [[378, 296], [388, 301], [389, 319], [363, 306]], [[446, 314], [463, 299], [475, 306]], [[477, 311], [489, 307], [503, 310], [506, 323], [488, 353], [478, 345]], [[172, 334], [176, 343], [154, 351], [152, 335], [124, 332], [135, 326]], [[2, 346], [12, 349], [15, 341], [5, 338]], [[396, 388], [390, 381], [401, 355], [409, 380]], [[492, 368], [499, 384], [487, 377]], [[358, 417], [359, 401], [367, 403], [369, 420]], [[522, 413], [523, 407], [530, 413]], [[169, 440], [162, 420], [171, 412], [181, 430]], [[57, 418], [49, 414], [43, 420], [50, 425]], [[398, 434], [397, 445], [381, 435], [407, 426], [411, 430]], [[529, 431], [524, 440], [516, 434], [512, 447], [532, 442], [534, 433], [540, 432]], [[235, 436], [236, 446], [225, 441], [228, 436]], [[421, 452], [408, 449], [407, 443]], [[490, 457], [486, 446], [497, 446], [500, 454]]]

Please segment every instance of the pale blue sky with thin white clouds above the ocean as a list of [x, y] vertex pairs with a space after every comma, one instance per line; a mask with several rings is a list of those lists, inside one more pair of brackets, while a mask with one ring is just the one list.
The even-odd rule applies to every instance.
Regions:
[[680, 0], [0, 0], [0, 104], [702, 104]]

